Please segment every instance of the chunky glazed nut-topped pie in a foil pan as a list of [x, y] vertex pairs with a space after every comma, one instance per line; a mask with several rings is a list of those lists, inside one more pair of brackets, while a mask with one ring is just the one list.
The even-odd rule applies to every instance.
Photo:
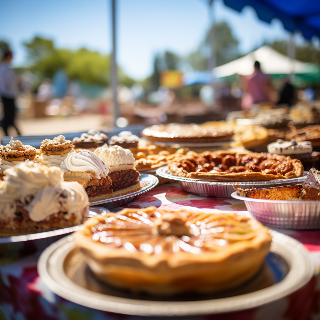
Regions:
[[179, 177], [211, 181], [268, 181], [301, 177], [303, 165], [289, 156], [226, 151], [195, 153], [169, 164]]

